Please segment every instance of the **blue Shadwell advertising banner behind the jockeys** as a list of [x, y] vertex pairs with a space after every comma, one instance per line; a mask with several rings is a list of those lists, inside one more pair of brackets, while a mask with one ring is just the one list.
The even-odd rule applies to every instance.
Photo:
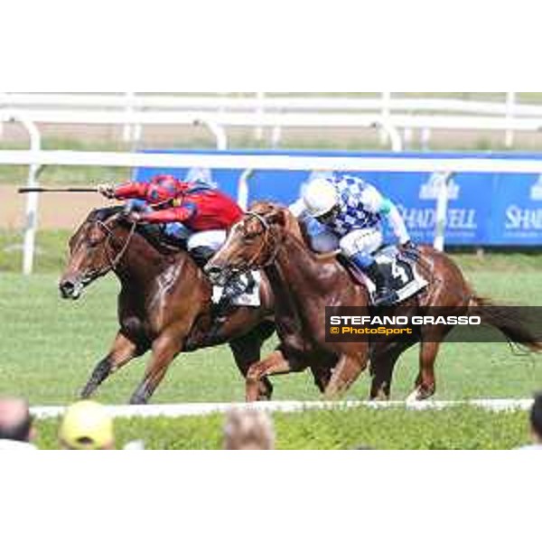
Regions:
[[[180, 151], [175, 151], [180, 152]], [[183, 151], [184, 152], [184, 151]], [[190, 151], [188, 152], [190, 153]], [[209, 154], [198, 151], [194, 154]], [[247, 151], [227, 154], [247, 154]], [[397, 157], [388, 153], [275, 152], [254, 151], [253, 154], [296, 154], [307, 156]], [[405, 153], [401, 157], [439, 158], [478, 157], [494, 159], [542, 160], [542, 154], [458, 154]], [[135, 172], [139, 181], [147, 181], [157, 173], [172, 173], [187, 180], [204, 180], [238, 198], [240, 170], [153, 170]], [[438, 173], [374, 173], [344, 172], [358, 175], [373, 183], [395, 201], [413, 238], [419, 243], [433, 243], [436, 227]], [[313, 172], [254, 172], [248, 181], [249, 201], [293, 203]], [[474, 247], [542, 247], [542, 176], [532, 174], [461, 173], [453, 177], [449, 187], [446, 244]]]

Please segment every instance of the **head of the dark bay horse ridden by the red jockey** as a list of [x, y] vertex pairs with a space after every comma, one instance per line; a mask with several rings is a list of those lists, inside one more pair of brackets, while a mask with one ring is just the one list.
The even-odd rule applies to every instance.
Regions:
[[60, 282], [64, 299], [79, 299], [86, 286], [117, 266], [126, 243], [126, 236], [117, 235], [122, 222], [118, 211], [92, 211], [70, 238], [70, 261]]

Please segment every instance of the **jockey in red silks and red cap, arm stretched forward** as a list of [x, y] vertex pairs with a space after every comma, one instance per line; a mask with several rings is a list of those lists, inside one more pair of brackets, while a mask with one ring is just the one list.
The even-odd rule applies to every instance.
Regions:
[[135, 201], [130, 205], [132, 220], [164, 225], [166, 236], [185, 240], [189, 252], [201, 264], [220, 249], [228, 229], [243, 216], [238, 204], [223, 192], [171, 175], [117, 187], [102, 184], [98, 192], [112, 200]]

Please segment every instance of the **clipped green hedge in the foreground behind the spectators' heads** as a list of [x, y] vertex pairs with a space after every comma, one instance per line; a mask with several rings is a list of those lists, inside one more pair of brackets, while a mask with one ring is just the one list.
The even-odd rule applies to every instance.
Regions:
[[[282, 450], [511, 450], [528, 443], [524, 412], [461, 407], [442, 412], [347, 411], [276, 415]], [[154, 450], [218, 450], [222, 416], [116, 421], [117, 446], [143, 440]], [[38, 445], [57, 447], [58, 421], [38, 424]]]

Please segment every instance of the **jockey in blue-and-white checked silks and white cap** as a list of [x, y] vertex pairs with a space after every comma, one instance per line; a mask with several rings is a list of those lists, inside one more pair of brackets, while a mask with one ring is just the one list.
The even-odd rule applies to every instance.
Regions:
[[[348, 175], [316, 177], [304, 189], [303, 198], [290, 208], [304, 221], [313, 248], [322, 238], [335, 238], [343, 257], [358, 267], [376, 285], [377, 306], [397, 302], [389, 277], [378, 267], [374, 254], [382, 247], [382, 221], [388, 220], [399, 244], [414, 248], [405, 221], [395, 204], [357, 177]], [[315, 222], [317, 221], [317, 223]]]

